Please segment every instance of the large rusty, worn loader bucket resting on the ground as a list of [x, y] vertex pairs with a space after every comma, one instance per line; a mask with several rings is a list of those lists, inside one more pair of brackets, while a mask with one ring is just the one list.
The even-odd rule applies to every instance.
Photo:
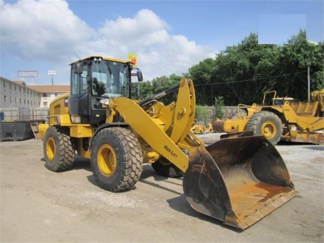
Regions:
[[296, 196], [280, 154], [264, 136], [224, 138], [189, 157], [188, 202], [224, 224], [246, 229]]

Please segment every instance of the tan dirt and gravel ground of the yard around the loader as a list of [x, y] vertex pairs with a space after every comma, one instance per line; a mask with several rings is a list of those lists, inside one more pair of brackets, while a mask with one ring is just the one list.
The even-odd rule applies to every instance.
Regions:
[[[218, 133], [201, 135], [206, 143]], [[193, 209], [182, 179], [145, 165], [136, 188], [96, 186], [90, 162], [55, 173], [41, 140], [0, 143], [1, 242], [323, 242], [324, 148], [279, 144], [299, 195], [245, 231]]]

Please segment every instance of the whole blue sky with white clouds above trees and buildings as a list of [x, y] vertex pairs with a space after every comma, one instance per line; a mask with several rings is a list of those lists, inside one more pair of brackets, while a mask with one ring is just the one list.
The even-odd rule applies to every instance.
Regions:
[[[259, 44], [283, 45], [299, 29], [323, 41], [323, 13], [323, 1], [299, 0], [0, 0], [0, 76], [69, 85], [68, 64], [78, 56], [127, 60], [130, 53], [145, 81], [182, 75], [251, 32]], [[30, 74], [38, 77], [18, 77]]]

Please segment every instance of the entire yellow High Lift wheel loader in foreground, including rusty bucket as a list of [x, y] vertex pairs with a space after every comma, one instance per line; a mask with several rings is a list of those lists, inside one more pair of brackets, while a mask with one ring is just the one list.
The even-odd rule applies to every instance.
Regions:
[[[193, 209], [240, 229], [296, 195], [284, 161], [264, 136], [242, 132], [205, 146], [190, 131], [191, 80], [132, 100], [132, 63], [91, 56], [70, 66], [70, 93], [52, 101], [49, 122], [39, 127], [48, 169], [70, 169], [78, 154], [90, 159], [100, 188], [119, 192], [133, 188], [143, 163], [151, 163], [164, 177], [183, 176]], [[139, 70], [136, 76], [142, 80]], [[175, 101], [161, 102], [173, 92]]]

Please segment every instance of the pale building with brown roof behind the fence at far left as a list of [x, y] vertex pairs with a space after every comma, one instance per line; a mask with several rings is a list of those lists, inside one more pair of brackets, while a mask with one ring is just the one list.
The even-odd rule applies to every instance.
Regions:
[[29, 85], [0, 77], [0, 108], [45, 108], [66, 92], [69, 85]]

